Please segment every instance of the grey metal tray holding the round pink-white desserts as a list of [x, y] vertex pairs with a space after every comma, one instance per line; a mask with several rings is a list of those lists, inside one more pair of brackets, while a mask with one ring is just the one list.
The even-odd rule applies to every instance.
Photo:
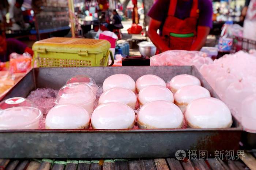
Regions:
[[[97, 84], [113, 74], [128, 74], [134, 80], [155, 74], [170, 81], [190, 74], [199, 78], [211, 96], [218, 98], [199, 71], [192, 66], [132, 66], [84, 68], [34, 68], [5, 96], [26, 97], [36, 88], [59, 89], [67, 79], [87, 74]], [[229, 129], [147, 130], [1, 130], [0, 158], [157, 158], [174, 157], [177, 150], [237, 150], [241, 126], [233, 118]]]

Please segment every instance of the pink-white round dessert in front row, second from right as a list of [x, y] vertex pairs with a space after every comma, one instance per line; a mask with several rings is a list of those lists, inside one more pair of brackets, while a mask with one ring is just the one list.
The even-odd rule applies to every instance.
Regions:
[[183, 114], [175, 104], [158, 100], [140, 108], [137, 123], [140, 129], [181, 128]]

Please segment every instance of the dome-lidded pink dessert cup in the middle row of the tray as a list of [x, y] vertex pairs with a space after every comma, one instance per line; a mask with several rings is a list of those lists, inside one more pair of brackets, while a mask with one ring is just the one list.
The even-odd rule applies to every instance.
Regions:
[[95, 94], [86, 83], [69, 83], [59, 90], [55, 104], [77, 104], [92, 114]]

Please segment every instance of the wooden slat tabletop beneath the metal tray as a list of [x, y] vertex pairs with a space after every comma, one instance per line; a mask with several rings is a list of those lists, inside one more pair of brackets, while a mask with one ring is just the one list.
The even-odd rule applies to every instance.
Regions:
[[[253, 157], [254, 158], [254, 157]], [[107, 160], [51, 160], [51, 159], [0, 159], [0, 170], [255, 170], [250, 157], [248, 166], [240, 160], [178, 161], [175, 158], [157, 159], [107, 159]], [[247, 160], [248, 161], [248, 160]], [[255, 163], [255, 162], [254, 162]]]

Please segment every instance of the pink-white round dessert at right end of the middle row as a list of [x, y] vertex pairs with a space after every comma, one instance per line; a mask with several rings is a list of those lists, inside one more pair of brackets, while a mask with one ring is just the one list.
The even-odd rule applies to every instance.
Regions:
[[174, 103], [180, 108], [182, 113], [185, 112], [188, 104], [195, 99], [210, 98], [210, 92], [197, 85], [181, 87], [174, 95]]

